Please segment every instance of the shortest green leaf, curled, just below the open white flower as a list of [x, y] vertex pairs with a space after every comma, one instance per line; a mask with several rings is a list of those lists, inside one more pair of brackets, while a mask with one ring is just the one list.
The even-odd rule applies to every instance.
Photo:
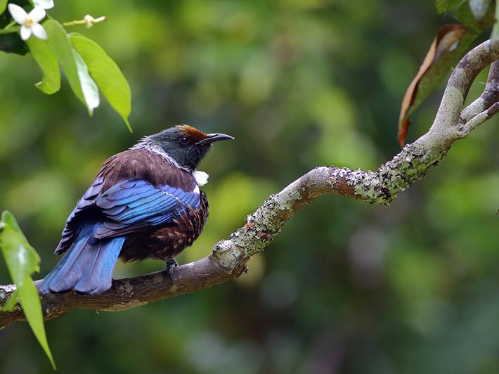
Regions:
[[60, 89], [60, 70], [57, 56], [48, 47], [45, 40], [30, 38], [26, 41], [27, 46], [35, 61], [44, 73], [41, 82], [35, 84], [37, 89], [51, 95]]

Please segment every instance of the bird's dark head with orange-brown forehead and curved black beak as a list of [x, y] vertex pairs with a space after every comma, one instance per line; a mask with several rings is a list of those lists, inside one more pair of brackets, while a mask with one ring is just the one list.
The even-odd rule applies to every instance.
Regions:
[[157, 134], [146, 136], [138, 146], [156, 146], [164, 150], [181, 167], [195, 170], [215, 141], [234, 140], [226, 134], [206, 134], [181, 124]]

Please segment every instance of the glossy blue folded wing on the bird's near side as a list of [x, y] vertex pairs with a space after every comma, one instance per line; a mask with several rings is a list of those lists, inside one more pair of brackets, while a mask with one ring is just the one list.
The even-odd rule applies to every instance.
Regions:
[[122, 181], [96, 199], [105, 221], [96, 238], [122, 236], [137, 229], [172, 223], [188, 209], [200, 206], [200, 195], [181, 188], [157, 188], [144, 179]]

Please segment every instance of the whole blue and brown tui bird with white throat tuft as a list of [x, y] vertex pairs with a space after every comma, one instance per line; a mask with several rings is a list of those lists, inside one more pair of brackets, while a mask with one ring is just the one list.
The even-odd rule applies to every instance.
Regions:
[[174, 256], [193, 244], [208, 218], [199, 188], [208, 174], [196, 167], [212, 143], [228, 139], [233, 137], [180, 125], [106, 160], [68, 217], [56, 248], [65, 256], [39, 291], [104, 292], [118, 257], [176, 266]]

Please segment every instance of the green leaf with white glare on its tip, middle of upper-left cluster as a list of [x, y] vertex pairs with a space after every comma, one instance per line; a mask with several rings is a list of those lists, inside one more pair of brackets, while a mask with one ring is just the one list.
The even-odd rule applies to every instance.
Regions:
[[44, 22], [44, 27], [48, 34], [48, 46], [56, 54], [60, 66], [63, 67], [64, 75], [70, 82], [72, 91], [89, 110], [89, 115], [92, 115], [93, 109], [99, 105], [96, 83], [90, 77], [82, 58], [74, 51], [64, 27], [53, 19]]

